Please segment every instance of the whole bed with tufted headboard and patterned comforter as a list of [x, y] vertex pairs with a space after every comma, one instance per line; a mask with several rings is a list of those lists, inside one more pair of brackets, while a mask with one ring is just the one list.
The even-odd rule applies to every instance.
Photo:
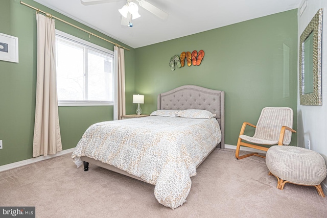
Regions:
[[175, 209], [186, 202], [196, 168], [224, 149], [225, 92], [184, 85], [157, 98], [150, 116], [91, 125], [72, 158], [155, 185], [157, 201]]

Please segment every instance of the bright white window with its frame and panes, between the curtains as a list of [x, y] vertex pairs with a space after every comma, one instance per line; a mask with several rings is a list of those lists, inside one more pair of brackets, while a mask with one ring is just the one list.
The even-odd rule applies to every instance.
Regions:
[[113, 105], [113, 52], [56, 30], [59, 106]]

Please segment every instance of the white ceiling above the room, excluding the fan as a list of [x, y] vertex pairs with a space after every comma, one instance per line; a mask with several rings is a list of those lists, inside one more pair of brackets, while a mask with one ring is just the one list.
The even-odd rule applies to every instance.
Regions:
[[[24, 0], [23, 0], [24, 1]], [[127, 0], [83, 5], [80, 0], [34, 0], [133, 48], [155, 44], [299, 8], [302, 0], [147, 0], [169, 13], [161, 20], [139, 7], [134, 27], [122, 27], [118, 12]]]

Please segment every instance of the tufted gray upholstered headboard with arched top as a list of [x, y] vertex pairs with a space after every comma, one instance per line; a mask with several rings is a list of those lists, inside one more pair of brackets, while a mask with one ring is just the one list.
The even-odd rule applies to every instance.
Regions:
[[221, 129], [220, 148], [225, 148], [225, 92], [185, 85], [158, 95], [158, 110], [201, 109], [216, 114]]

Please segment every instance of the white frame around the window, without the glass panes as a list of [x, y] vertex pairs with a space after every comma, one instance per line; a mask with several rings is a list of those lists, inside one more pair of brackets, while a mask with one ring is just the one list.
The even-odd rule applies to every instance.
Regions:
[[[88, 42], [86, 40], [83, 40], [81, 38], [78, 38], [76, 36], [70, 35], [68, 33], [62, 32], [60, 30], [56, 30], [56, 39], [57, 39], [57, 35], [59, 37], [63, 37], [66, 38], [68, 40], [72, 40], [75, 41], [85, 47], [89, 47], [90, 49], [93, 50], [99, 50], [100, 53], [107, 53], [112, 55], [112, 62], [114, 63], [114, 52], [108, 49], [105, 49], [102, 46], [99, 46], [97, 44]], [[57, 50], [57, 43], [56, 43], [56, 50]], [[57, 51], [56, 51], [56, 56], [57, 56]], [[57, 60], [57, 58], [56, 58]], [[115, 95], [115, 89], [114, 89], [114, 74], [115, 74], [115, 70], [114, 70], [114, 64], [113, 64], [113, 70], [112, 70], [112, 101], [90, 101], [90, 100], [59, 100], [58, 99], [58, 107], [62, 107], [62, 106], [113, 106], [114, 105], [114, 95]], [[87, 79], [87, 75], [85, 76]], [[57, 79], [57, 76], [56, 76]], [[57, 83], [56, 83], [57, 84]], [[87, 87], [85, 87], [87, 89]]]

